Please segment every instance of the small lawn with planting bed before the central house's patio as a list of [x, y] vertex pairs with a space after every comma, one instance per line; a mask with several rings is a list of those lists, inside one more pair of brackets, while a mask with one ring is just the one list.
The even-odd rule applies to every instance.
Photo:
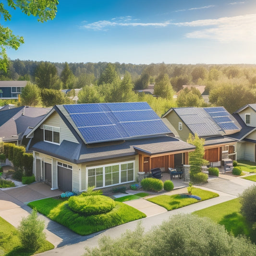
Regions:
[[[213, 192], [203, 190], [200, 188], [193, 188], [192, 195], [197, 195], [197, 196], [201, 197], [200, 201], [204, 201], [204, 200], [219, 196], [217, 193], [213, 193]], [[148, 198], [146, 200], [150, 201], [152, 203], [155, 203], [161, 207], [164, 207], [168, 211], [200, 202], [195, 198], [184, 198], [180, 194], [178, 194], [178, 195], [158, 195], [158, 196]]]

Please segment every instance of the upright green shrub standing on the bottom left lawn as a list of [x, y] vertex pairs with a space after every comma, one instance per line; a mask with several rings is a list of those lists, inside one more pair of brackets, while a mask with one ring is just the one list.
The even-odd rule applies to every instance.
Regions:
[[33, 251], [39, 249], [45, 241], [44, 221], [37, 218], [37, 211], [32, 210], [27, 218], [23, 218], [18, 227], [19, 237], [24, 248]]

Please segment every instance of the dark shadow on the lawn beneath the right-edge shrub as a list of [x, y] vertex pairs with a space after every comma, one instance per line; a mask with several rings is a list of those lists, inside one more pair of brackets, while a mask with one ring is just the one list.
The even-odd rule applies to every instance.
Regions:
[[232, 214], [225, 215], [219, 224], [224, 225], [228, 232], [234, 236], [245, 235], [250, 237], [253, 243], [256, 243], [256, 230], [252, 229], [251, 222], [247, 221], [240, 213], [233, 212]]

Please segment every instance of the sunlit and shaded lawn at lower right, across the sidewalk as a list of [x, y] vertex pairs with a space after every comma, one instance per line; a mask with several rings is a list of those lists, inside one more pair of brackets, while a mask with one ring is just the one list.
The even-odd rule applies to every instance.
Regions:
[[211, 206], [202, 210], [195, 211], [193, 214], [199, 217], [208, 217], [213, 221], [224, 225], [228, 232], [234, 236], [240, 234], [250, 237], [256, 243], [256, 230], [252, 229], [252, 222], [247, 221], [240, 214], [241, 204], [239, 198]]

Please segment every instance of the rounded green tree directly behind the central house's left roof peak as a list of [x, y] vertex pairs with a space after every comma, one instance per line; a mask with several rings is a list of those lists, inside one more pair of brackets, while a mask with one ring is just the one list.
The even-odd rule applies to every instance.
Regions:
[[72, 104], [73, 101], [66, 97], [60, 90], [42, 89], [41, 90], [42, 103], [45, 107], [52, 107], [54, 105]]

